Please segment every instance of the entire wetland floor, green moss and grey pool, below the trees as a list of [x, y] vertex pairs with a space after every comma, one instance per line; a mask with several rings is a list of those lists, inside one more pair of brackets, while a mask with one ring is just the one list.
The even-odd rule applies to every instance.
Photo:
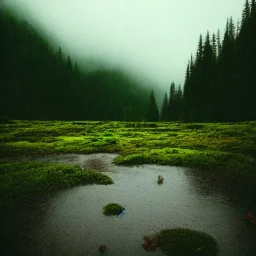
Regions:
[[[4, 255], [256, 252], [256, 122], [10, 120], [0, 131]], [[124, 214], [104, 216], [109, 203]]]

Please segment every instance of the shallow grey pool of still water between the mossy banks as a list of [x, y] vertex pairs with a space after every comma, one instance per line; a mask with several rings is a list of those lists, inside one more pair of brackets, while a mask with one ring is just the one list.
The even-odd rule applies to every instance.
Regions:
[[[6, 255], [100, 255], [98, 247], [105, 244], [105, 255], [163, 255], [158, 250], [145, 252], [143, 236], [182, 227], [215, 237], [219, 255], [256, 255], [256, 234], [244, 221], [242, 198], [234, 203], [230, 194], [213, 190], [190, 169], [120, 167], [111, 164], [115, 156], [45, 159], [107, 171], [115, 183], [75, 187], [37, 204], [9, 209], [4, 216], [7, 238], [2, 251]], [[156, 182], [159, 174], [164, 177], [162, 185]], [[123, 216], [102, 214], [110, 202], [125, 206]]]

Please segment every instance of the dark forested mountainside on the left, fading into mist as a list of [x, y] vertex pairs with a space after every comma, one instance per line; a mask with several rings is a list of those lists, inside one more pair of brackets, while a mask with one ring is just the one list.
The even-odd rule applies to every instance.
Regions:
[[81, 72], [61, 48], [0, 9], [0, 116], [142, 120], [148, 95], [120, 71]]

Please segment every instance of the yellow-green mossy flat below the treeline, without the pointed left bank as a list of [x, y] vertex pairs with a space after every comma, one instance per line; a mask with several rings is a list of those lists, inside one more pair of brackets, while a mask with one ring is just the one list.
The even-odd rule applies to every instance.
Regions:
[[[256, 182], [256, 122], [10, 121], [0, 124], [2, 169], [3, 161], [9, 157], [97, 152], [119, 153], [117, 164], [193, 167], [209, 174], [219, 173], [229, 180]], [[0, 175], [1, 180], [7, 179]]]

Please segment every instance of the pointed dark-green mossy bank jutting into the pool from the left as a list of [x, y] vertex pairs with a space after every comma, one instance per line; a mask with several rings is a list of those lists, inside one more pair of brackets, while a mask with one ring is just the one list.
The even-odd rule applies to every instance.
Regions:
[[108, 176], [79, 166], [46, 162], [1, 162], [0, 201], [26, 198], [87, 184], [112, 184]]

